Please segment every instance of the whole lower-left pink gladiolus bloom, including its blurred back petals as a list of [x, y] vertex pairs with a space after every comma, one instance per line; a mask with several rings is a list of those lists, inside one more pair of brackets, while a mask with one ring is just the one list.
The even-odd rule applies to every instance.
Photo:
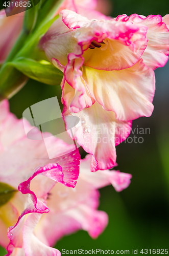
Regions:
[[[0, 241], [2, 246], [8, 245], [7, 255], [60, 255], [50, 246], [79, 229], [88, 231], [92, 238], [98, 237], [108, 217], [97, 210], [97, 189], [112, 184], [121, 191], [129, 186], [131, 175], [114, 170], [91, 173], [90, 155], [81, 160], [79, 175], [78, 151], [50, 163], [52, 160], [45, 159], [42, 141], [26, 138], [22, 121], [9, 113], [7, 101], [1, 103], [0, 113], [0, 182], [15, 189], [15, 195], [0, 207]], [[60, 139], [51, 142], [58, 155], [70, 147]]]

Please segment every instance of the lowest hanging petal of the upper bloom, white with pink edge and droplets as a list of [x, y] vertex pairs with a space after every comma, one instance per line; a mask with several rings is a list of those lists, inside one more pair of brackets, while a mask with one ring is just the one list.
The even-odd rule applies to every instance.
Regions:
[[79, 113], [63, 112], [68, 114], [80, 118], [81, 125], [72, 130], [79, 145], [94, 156], [91, 170], [112, 168], [116, 161], [115, 145], [129, 136], [131, 122], [118, 121], [112, 111], [105, 111], [97, 102]]

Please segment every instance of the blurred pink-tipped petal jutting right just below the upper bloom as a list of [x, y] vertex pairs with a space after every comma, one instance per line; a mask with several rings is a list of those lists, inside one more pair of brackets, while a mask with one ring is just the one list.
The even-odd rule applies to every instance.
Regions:
[[87, 155], [81, 160], [81, 179], [92, 184], [95, 188], [101, 188], [112, 184], [116, 191], [122, 191], [130, 184], [131, 174], [120, 173], [118, 170], [98, 170], [90, 172], [91, 155]]

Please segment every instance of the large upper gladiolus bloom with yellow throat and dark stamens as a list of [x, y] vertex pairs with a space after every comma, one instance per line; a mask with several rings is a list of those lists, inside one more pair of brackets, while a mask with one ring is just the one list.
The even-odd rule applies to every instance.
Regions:
[[73, 131], [94, 156], [93, 171], [111, 168], [115, 145], [130, 134], [131, 120], [152, 114], [155, 77], [141, 59], [147, 31], [142, 23], [89, 20], [63, 10], [40, 41], [64, 72], [63, 115], [80, 118]]

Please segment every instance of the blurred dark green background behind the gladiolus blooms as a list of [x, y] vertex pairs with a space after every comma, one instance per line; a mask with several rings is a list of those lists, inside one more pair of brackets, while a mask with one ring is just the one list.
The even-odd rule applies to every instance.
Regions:
[[[124, 13], [146, 16], [169, 13], [168, 0], [113, 0], [111, 4], [113, 17]], [[169, 249], [169, 62], [155, 74], [154, 112], [150, 118], [133, 121], [132, 126], [133, 131], [137, 127], [150, 128], [150, 134], [139, 135], [135, 131], [130, 137], [143, 137], [143, 143], [123, 142], [116, 147], [116, 169], [132, 174], [130, 186], [120, 193], [116, 193], [112, 186], [101, 189], [99, 209], [109, 216], [107, 228], [96, 240], [85, 231], [64, 237], [56, 245], [60, 251], [62, 248], [100, 248], [130, 250], [132, 254], [132, 249], [138, 249], [140, 255], [141, 249]], [[30, 79], [10, 99], [11, 112], [21, 118], [30, 105], [54, 96], [60, 99], [60, 86], [47, 86]], [[84, 156], [82, 150], [81, 154]], [[0, 248], [0, 255], [4, 254], [5, 250]]]

